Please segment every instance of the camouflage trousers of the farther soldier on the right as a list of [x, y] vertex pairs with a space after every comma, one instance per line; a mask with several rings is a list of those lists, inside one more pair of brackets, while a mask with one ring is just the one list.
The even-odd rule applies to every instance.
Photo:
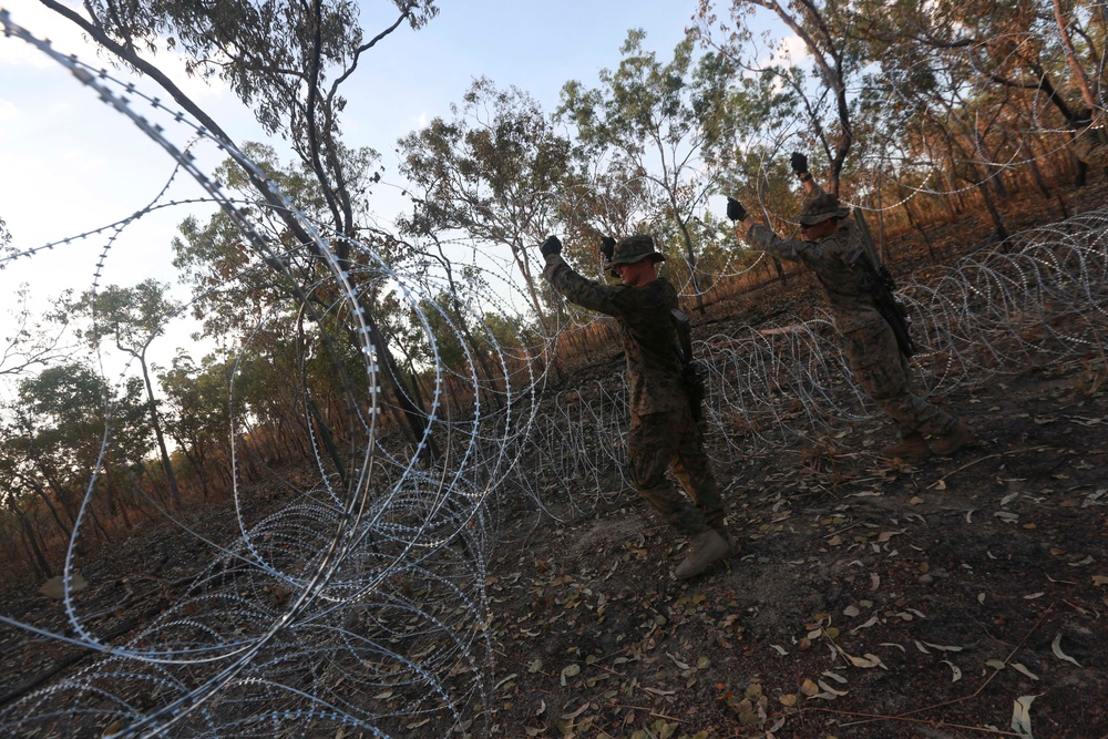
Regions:
[[912, 393], [907, 359], [884, 320], [844, 331], [842, 340], [854, 380], [892, 418], [901, 438], [940, 434], [951, 428], [954, 417]]

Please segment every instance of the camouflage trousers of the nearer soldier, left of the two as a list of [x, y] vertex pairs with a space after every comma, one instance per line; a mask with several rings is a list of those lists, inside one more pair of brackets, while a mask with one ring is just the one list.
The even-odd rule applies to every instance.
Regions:
[[[681, 484], [686, 497], [666, 476]], [[722, 531], [724, 503], [704, 451], [704, 434], [689, 410], [632, 414], [627, 472], [638, 493], [670, 526], [697, 534], [705, 526]]]

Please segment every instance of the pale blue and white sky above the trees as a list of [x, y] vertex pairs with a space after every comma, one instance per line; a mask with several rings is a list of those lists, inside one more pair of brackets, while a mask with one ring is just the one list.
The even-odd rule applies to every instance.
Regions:
[[[78, 2], [65, 0], [79, 8]], [[396, 167], [396, 141], [434, 116], [449, 116], [471, 82], [488, 76], [500, 89], [515, 85], [551, 112], [562, 85], [595, 85], [602, 69], [618, 65], [629, 29], [646, 31], [645, 48], [666, 59], [691, 23], [696, 0], [441, 0], [440, 13], [419, 31], [401, 27], [371, 50], [343, 86], [345, 141], [382, 154], [386, 186], [373, 208], [389, 223], [403, 207]], [[11, 20], [54, 49], [96, 66], [106, 57], [78, 30], [37, 0], [0, 0]], [[386, 0], [362, 1], [368, 34], [396, 20]], [[237, 143], [266, 141], [252, 113], [218, 83], [184, 75], [183, 63], [165, 52], [160, 68], [203, 105]], [[126, 78], [124, 70], [113, 75]], [[138, 89], [160, 94], [148, 82]], [[164, 93], [161, 93], [164, 96]], [[269, 142], [279, 144], [279, 142]], [[279, 148], [279, 146], [278, 146]], [[201, 152], [211, 171], [222, 155]], [[173, 160], [125, 116], [100, 102], [68, 70], [16, 38], [0, 37], [0, 218], [20, 249], [76, 236], [142, 211], [168, 181]], [[291, 160], [291, 156], [286, 157]], [[389, 186], [391, 185], [391, 187]], [[199, 195], [177, 177], [163, 202]], [[205, 218], [212, 206], [181, 205], [143, 216], [116, 239], [98, 236], [62, 245], [0, 270], [0, 318], [20, 284], [41, 302], [62, 289], [78, 292], [104, 285], [175, 279], [171, 239], [187, 215]], [[110, 247], [110, 248], [109, 248]], [[184, 286], [174, 297], [187, 298]], [[178, 342], [186, 341], [182, 329]], [[198, 358], [198, 357], [197, 357]]]

